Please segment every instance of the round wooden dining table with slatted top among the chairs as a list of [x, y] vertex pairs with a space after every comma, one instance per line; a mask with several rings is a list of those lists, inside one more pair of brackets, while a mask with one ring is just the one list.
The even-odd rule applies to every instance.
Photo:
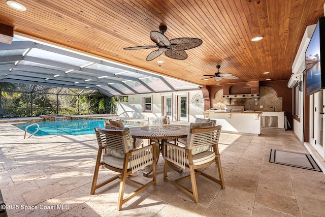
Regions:
[[[157, 161], [159, 158], [160, 151], [162, 151], [162, 145], [164, 140], [169, 139], [178, 139], [184, 138], [188, 134], [188, 125], [140, 125], [135, 127], [130, 127], [131, 135], [133, 138], [133, 146], [136, 146], [136, 139], [149, 139], [149, 140], [157, 140], [156, 150], [157, 151]], [[174, 165], [170, 165], [174, 170], [178, 172], [182, 172]], [[144, 176], [148, 176], [151, 173], [152, 169], [144, 172]]]

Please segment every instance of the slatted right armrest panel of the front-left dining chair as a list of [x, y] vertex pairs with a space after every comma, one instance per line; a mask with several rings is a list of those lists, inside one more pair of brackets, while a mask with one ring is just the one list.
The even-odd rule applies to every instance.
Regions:
[[130, 153], [129, 163], [133, 172], [155, 163], [155, 145], [134, 149]]

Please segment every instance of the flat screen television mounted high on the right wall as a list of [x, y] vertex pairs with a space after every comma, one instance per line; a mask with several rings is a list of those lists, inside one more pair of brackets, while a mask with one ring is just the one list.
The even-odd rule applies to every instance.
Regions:
[[325, 88], [325, 17], [319, 18], [306, 53], [306, 95]]

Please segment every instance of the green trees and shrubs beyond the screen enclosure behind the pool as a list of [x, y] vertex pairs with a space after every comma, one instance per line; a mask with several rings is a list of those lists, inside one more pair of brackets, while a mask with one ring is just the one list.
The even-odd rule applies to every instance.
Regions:
[[0, 85], [1, 105], [5, 113], [19, 117], [56, 113], [96, 114], [99, 109], [111, 112], [111, 107], [106, 107], [106, 103], [111, 105], [111, 98], [103, 98], [100, 92], [93, 90], [12, 83]]

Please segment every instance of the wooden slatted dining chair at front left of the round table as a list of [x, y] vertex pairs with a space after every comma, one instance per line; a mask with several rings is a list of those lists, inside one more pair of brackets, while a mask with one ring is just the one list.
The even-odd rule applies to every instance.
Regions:
[[[99, 149], [90, 194], [93, 195], [96, 189], [99, 189], [105, 184], [119, 178], [120, 188], [117, 201], [117, 210], [119, 211], [122, 209], [123, 203], [140, 194], [151, 185], [156, 185], [155, 145], [148, 145], [139, 149], [133, 149], [132, 136], [128, 128], [123, 130], [95, 128], [95, 133]], [[104, 149], [107, 150], [107, 153], [105, 154]], [[109, 170], [118, 172], [119, 174], [101, 182], [100, 184], [97, 184], [99, 170], [102, 165]], [[148, 183], [142, 184], [127, 177], [128, 175], [131, 175], [132, 173], [149, 165], [152, 166], [152, 180]], [[123, 195], [126, 181], [127, 183], [135, 185], [138, 187], [138, 189], [124, 197]]]

